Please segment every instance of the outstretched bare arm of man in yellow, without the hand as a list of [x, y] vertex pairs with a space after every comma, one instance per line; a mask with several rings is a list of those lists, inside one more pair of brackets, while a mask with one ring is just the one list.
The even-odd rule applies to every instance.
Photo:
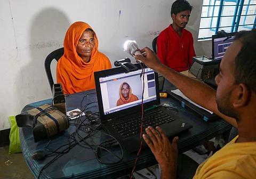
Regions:
[[237, 127], [235, 119], [227, 117], [219, 112], [217, 103], [215, 102], [216, 91], [213, 90], [213, 88], [196, 79], [182, 75], [163, 64], [156, 67], [156, 71], [179, 88], [179, 90], [191, 101], [213, 111], [223, 119], [227, 120], [231, 125]]

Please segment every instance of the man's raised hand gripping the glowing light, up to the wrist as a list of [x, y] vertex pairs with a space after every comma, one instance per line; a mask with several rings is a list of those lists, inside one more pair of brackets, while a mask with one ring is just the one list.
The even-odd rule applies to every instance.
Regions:
[[157, 71], [159, 67], [163, 66], [161, 61], [159, 61], [157, 55], [153, 51], [151, 51], [148, 47], [143, 48], [140, 52], [141, 53], [146, 52], [146, 53], [144, 53], [143, 56], [135, 55], [135, 59], [141, 60], [143, 63], [146, 64], [147, 67]]

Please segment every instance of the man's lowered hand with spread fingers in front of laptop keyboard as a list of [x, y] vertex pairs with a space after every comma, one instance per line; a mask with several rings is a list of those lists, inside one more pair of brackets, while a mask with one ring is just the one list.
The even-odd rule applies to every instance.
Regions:
[[158, 133], [153, 127], [149, 126], [146, 128], [145, 131], [149, 135], [151, 141], [145, 134], [143, 134], [143, 139], [148, 144], [161, 167], [161, 178], [176, 178], [178, 137], [175, 137], [171, 144], [160, 127], [156, 127], [156, 130]]

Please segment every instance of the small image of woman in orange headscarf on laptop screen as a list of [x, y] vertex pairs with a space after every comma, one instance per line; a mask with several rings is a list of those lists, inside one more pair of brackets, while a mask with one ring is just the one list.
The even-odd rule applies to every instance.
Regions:
[[116, 106], [139, 100], [136, 95], [132, 94], [132, 88], [126, 82], [121, 84], [119, 94], [120, 98], [117, 100]]

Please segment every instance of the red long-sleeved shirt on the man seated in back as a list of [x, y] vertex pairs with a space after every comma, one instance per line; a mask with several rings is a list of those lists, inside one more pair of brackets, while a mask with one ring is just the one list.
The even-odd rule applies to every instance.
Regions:
[[182, 29], [181, 37], [170, 25], [157, 38], [157, 56], [167, 67], [175, 71], [186, 71], [196, 56], [194, 39], [190, 31]]

